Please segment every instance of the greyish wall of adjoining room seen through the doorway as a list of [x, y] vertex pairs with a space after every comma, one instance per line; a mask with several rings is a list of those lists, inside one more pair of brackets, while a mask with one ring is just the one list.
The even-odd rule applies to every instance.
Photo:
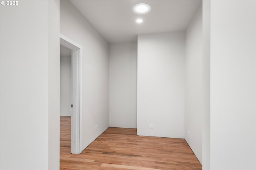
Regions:
[[71, 49], [60, 45], [60, 116], [71, 116]]

